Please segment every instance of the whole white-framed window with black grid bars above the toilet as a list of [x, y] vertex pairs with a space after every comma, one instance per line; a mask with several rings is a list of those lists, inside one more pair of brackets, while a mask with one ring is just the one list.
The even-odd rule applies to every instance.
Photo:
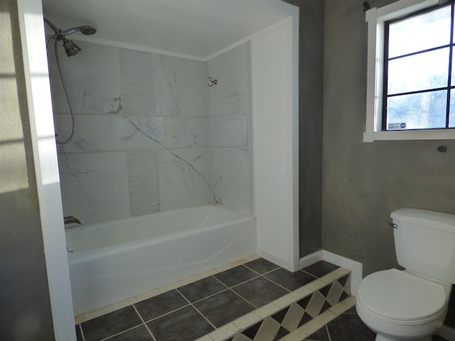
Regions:
[[366, 13], [364, 141], [455, 139], [454, 5], [439, 2], [400, 0]]

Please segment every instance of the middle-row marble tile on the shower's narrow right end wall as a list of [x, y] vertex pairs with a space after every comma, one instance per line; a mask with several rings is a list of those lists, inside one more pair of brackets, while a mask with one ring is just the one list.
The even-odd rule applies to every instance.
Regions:
[[213, 147], [246, 147], [247, 117], [246, 113], [228, 114], [210, 118], [211, 146]]

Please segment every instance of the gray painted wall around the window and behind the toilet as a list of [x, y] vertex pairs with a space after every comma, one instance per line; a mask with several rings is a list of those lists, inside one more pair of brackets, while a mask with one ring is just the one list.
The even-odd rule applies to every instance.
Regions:
[[[369, 2], [381, 7], [393, 1]], [[455, 141], [363, 143], [367, 24], [362, 9], [361, 1], [325, 1], [322, 247], [360, 261], [366, 276], [398, 266], [390, 212], [416, 207], [455, 214]], [[446, 153], [437, 151], [439, 145], [447, 146]], [[454, 299], [450, 307], [455, 311]], [[452, 327], [454, 311], [446, 319]]]

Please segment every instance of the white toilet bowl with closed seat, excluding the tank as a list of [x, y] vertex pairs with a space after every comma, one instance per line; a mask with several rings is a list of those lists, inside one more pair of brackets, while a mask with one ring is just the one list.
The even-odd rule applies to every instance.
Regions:
[[430, 341], [446, 315], [447, 289], [405, 271], [379, 271], [360, 282], [356, 309], [376, 341]]

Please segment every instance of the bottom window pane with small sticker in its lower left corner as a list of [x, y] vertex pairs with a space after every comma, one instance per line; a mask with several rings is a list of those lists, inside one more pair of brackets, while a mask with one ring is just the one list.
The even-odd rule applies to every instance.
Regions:
[[446, 90], [389, 97], [386, 130], [445, 128], [446, 103]]

